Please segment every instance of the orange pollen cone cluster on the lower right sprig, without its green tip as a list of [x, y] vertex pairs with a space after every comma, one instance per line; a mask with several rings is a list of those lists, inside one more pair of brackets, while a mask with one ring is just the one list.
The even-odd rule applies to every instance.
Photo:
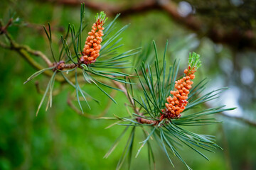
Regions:
[[196, 69], [189, 66], [188, 69], [184, 70], [185, 77], [175, 81], [176, 91], [170, 91], [172, 97], [169, 96], [166, 98], [166, 108], [162, 110], [163, 113], [161, 114], [160, 120], [164, 118], [180, 118], [180, 113], [183, 112], [188, 103], [186, 100], [193, 84], [192, 80], [195, 79], [194, 72], [196, 72]]

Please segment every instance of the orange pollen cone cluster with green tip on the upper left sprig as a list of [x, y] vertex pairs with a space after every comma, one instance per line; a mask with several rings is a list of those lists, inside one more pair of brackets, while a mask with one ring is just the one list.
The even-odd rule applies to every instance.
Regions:
[[88, 36], [85, 41], [85, 47], [82, 51], [82, 57], [80, 60], [84, 64], [91, 64], [96, 61], [97, 57], [100, 56], [100, 49], [102, 42], [102, 36], [105, 24], [105, 13], [101, 12], [100, 16], [97, 15], [96, 22], [93, 23], [92, 30], [88, 33]]

